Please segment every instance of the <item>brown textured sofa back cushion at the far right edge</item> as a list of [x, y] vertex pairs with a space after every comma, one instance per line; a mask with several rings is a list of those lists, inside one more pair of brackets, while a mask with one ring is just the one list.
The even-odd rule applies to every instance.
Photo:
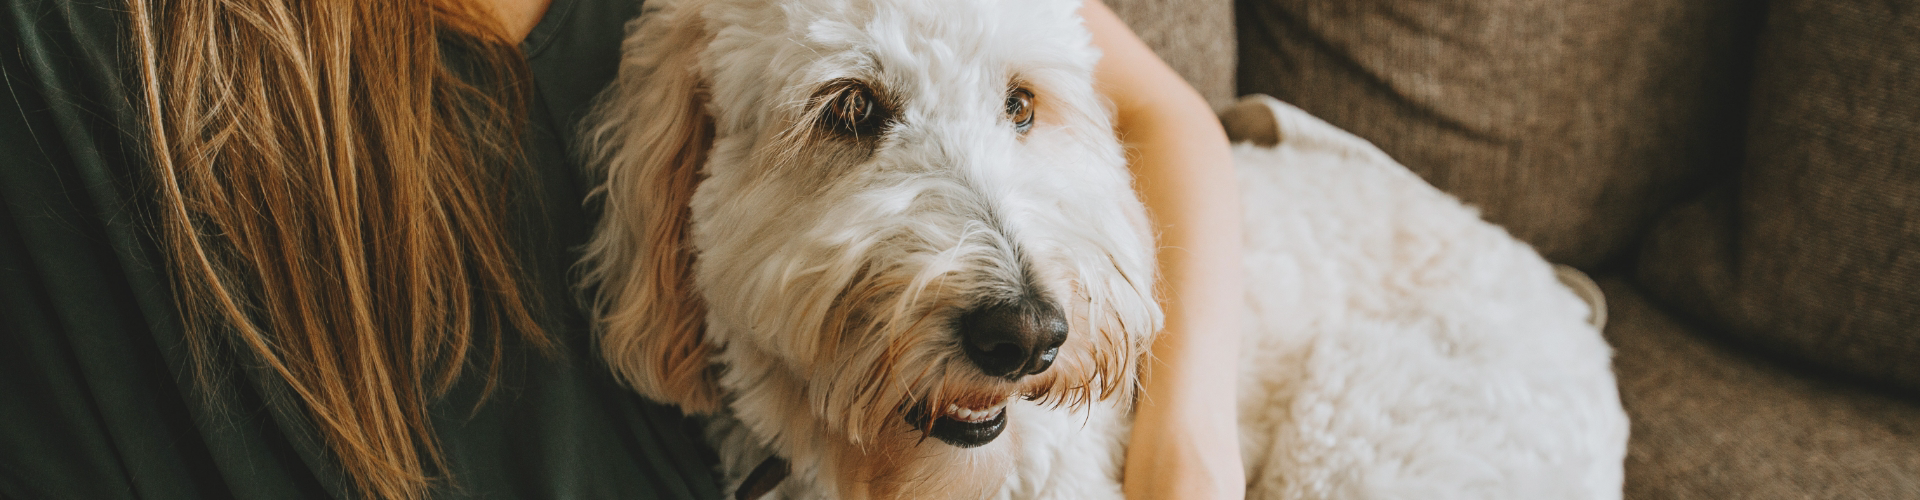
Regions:
[[1920, 6], [1772, 2], [1747, 163], [1640, 283], [1764, 348], [1920, 394]]

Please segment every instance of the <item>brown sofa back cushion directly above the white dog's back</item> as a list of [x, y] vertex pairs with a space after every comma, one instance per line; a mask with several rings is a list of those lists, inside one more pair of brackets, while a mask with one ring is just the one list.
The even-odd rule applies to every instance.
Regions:
[[1238, 0], [1238, 90], [1373, 140], [1592, 269], [1734, 160], [1749, 4]]

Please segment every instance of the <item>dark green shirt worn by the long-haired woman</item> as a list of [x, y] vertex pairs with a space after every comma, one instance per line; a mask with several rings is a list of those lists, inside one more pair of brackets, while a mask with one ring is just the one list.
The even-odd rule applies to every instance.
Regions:
[[[119, 0], [0, 0], [0, 498], [353, 498], [278, 379], [202, 400], [159, 267]], [[555, 0], [534, 69], [516, 244], [559, 356], [511, 348], [434, 404], [442, 498], [714, 498], [697, 429], [591, 356], [568, 287], [591, 227], [566, 144], [637, 0]], [[167, 33], [161, 33], [167, 37]], [[282, 402], [282, 404], [269, 404]]]

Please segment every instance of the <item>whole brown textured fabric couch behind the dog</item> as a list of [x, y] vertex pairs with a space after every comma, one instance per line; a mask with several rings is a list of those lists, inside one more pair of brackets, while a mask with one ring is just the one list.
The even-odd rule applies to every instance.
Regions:
[[1920, 2], [1108, 4], [1597, 277], [1626, 498], [1920, 498]]

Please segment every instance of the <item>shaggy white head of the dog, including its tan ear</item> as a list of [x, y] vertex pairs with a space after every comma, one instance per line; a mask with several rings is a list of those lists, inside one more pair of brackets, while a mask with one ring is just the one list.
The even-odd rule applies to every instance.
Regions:
[[649, 6], [589, 121], [628, 383], [866, 485], [1131, 396], [1154, 246], [1079, 2]]

